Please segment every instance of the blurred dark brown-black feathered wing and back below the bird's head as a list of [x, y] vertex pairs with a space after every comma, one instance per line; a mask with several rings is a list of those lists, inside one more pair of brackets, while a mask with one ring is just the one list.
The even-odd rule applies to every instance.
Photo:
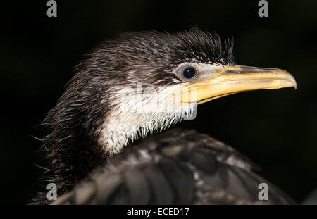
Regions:
[[[182, 156], [186, 150], [189, 153]], [[197, 151], [204, 153], [197, 156]], [[231, 156], [239, 164], [223, 159]], [[201, 168], [205, 165], [209, 168]], [[170, 130], [125, 148], [53, 204], [294, 203], [251, 167], [247, 158], [211, 137], [190, 130]], [[268, 184], [268, 201], [258, 199], [262, 182]]]

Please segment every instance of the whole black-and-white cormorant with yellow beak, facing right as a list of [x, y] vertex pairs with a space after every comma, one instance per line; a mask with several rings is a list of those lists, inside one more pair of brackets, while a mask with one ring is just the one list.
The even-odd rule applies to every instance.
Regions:
[[[168, 130], [197, 104], [237, 92], [296, 87], [285, 70], [235, 65], [232, 41], [198, 28], [107, 39], [43, 125], [53, 204], [291, 204], [232, 147], [193, 130]], [[130, 146], [128, 146], [130, 144]], [[268, 201], [258, 198], [268, 184]], [[49, 204], [39, 194], [33, 204]]]

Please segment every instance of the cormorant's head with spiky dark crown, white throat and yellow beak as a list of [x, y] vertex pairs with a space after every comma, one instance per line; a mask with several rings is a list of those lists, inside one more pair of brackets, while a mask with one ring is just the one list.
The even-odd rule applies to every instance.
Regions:
[[190, 118], [197, 104], [255, 89], [296, 87], [285, 70], [235, 65], [232, 42], [197, 28], [108, 39], [75, 68], [44, 123], [50, 144], [93, 144], [105, 156]]

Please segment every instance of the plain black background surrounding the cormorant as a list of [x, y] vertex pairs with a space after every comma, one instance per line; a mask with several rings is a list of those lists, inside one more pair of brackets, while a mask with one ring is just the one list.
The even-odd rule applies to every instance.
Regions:
[[[15, 1], [16, 2], [16, 1]], [[317, 1], [46, 1], [1, 4], [1, 203], [24, 204], [37, 186], [37, 125], [54, 107], [73, 66], [106, 37], [193, 25], [235, 38], [237, 63], [288, 70], [298, 88], [246, 92], [198, 108], [189, 127], [211, 134], [262, 168], [296, 201], [317, 187]]]

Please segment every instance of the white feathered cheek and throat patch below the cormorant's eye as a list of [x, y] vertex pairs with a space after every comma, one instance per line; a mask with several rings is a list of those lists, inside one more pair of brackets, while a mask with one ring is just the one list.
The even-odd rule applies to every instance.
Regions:
[[[138, 86], [138, 85], [137, 85]], [[161, 132], [194, 113], [197, 104], [182, 104], [174, 91], [181, 85], [169, 85], [158, 91], [146, 87], [116, 87], [112, 96], [111, 111], [99, 128], [98, 143], [107, 156], [117, 154], [138, 137]], [[143, 90], [143, 92], [142, 92]]]

